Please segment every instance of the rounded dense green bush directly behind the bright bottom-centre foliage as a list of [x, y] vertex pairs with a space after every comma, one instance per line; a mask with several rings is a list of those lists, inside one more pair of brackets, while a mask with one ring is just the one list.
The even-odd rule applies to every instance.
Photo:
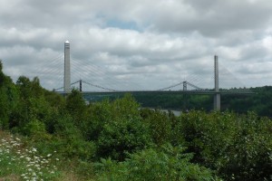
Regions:
[[149, 129], [141, 119], [120, 119], [103, 125], [97, 141], [98, 155], [123, 160], [132, 153], [151, 145]]

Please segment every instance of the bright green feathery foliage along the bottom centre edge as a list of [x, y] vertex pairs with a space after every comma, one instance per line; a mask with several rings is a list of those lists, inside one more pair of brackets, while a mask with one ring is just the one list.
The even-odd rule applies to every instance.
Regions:
[[123, 162], [102, 159], [98, 180], [215, 180], [209, 169], [189, 163], [190, 154], [170, 144], [143, 149]]

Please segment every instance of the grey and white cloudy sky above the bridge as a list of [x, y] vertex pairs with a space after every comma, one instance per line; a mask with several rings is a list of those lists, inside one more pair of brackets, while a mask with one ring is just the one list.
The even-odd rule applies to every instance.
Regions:
[[271, 0], [0, 0], [0, 59], [14, 81], [62, 87], [66, 40], [72, 81], [209, 88], [218, 54], [221, 87], [272, 84]]

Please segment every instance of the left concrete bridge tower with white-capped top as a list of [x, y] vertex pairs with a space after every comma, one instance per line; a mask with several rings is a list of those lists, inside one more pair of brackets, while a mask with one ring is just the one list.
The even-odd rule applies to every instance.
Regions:
[[64, 93], [71, 92], [70, 43], [64, 43]]

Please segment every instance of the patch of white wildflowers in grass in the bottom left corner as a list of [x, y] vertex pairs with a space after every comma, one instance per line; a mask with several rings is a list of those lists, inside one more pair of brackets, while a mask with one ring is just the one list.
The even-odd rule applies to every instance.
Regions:
[[57, 180], [62, 177], [53, 154], [41, 156], [17, 137], [0, 131], [0, 180]]

